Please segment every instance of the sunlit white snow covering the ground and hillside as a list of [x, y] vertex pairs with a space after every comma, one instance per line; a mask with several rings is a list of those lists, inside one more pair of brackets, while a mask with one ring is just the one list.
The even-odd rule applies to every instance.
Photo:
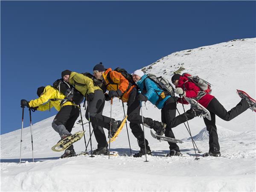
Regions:
[[[233, 40], [221, 44], [199, 47], [172, 53], [144, 68], [146, 73], [154, 73], [171, 79], [173, 72], [183, 67], [183, 72], [199, 75], [212, 84], [212, 95], [227, 110], [233, 108], [240, 98], [236, 89], [246, 91], [255, 98], [256, 38]], [[122, 66], [121, 66], [122, 67]], [[136, 69], [134, 69], [136, 70]], [[160, 120], [160, 110], [146, 103], [143, 115]], [[126, 106], [125, 106], [126, 108]], [[183, 108], [178, 105], [183, 113]], [[189, 106], [185, 106], [189, 109]], [[40, 112], [35, 112], [40, 113]], [[84, 110], [82, 111], [84, 118]], [[110, 116], [110, 103], [106, 102], [104, 114]], [[123, 118], [122, 103], [113, 102], [116, 119]], [[183, 157], [165, 157], [169, 152], [166, 142], [159, 142], [145, 128], [152, 156], [149, 162], [130, 156], [127, 130], [124, 127], [111, 150], [119, 156], [78, 156], [58, 159], [63, 152], [51, 150], [58, 140], [52, 129], [50, 117], [32, 126], [34, 157], [30, 127], [23, 129], [22, 160], [20, 157], [21, 129], [0, 136], [1, 139], [1, 191], [255, 191], [255, 113], [247, 110], [240, 116], [225, 122], [216, 117], [222, 157], [200, 157], [195, 152], [184, 125], [173, 128]], [[80, 118], [79, 118], [80, 119]], [[77, 121], [79, 120], [77, 119]], [[85, 119], [85, 118], [84, 118]], [[198, 148], [208, 151], [208, 133], [203, 119], [197, 117], [189, 121], [192, 136]], [[86, 140], [89, 126], [84, 125]], [[73, 133], [82, 130], [75, 124]], [[105, 130], [107, 135], [107, 131]], [[128, 126], [132, 153], [140, 149]], [[93, 149], [96, 140], [93, 136]], [[84, 151], [84, 140], [74, 144], [77, 153]], [[201, 156], [202, 154], [200, 154]]]

